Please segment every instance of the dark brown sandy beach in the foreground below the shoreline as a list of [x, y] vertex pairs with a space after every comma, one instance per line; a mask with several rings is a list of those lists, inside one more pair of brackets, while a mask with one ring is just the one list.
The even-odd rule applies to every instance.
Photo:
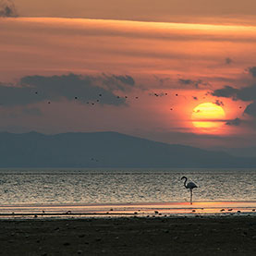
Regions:
[[0, 255], [256, 255], [256, 216], [0, 220]]

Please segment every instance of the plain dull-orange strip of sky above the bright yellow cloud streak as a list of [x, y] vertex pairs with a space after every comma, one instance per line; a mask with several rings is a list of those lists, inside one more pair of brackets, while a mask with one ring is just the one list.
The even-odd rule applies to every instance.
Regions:
[[20, 16], [255, 24], [254, 0], [18, 0]]

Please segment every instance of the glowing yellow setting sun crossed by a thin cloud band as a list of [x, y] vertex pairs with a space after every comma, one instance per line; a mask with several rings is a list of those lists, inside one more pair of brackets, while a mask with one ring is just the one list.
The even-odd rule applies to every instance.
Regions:
[[193, 109], [191, 119], [194, 127], [209, 130], [220, 128], [225, 117], [225, 111], [220, 105], [204, 103]]

